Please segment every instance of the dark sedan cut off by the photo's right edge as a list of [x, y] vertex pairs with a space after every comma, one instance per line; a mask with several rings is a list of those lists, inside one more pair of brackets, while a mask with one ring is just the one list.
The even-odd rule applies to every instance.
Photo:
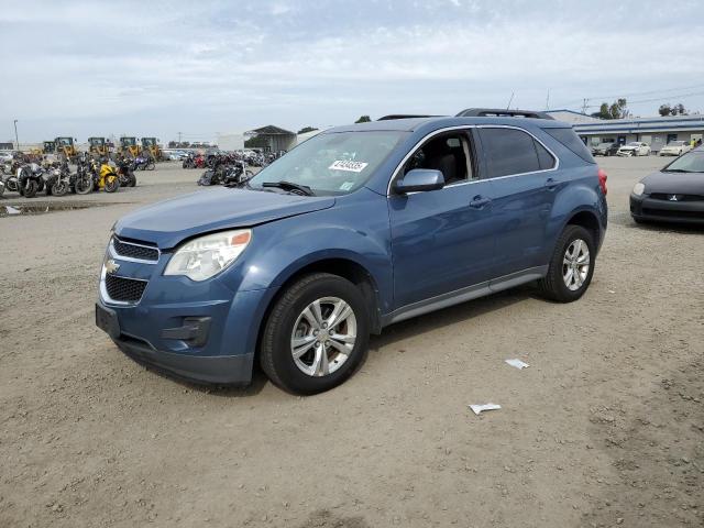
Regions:
[[689, 152], [638, 182], [630, 194], [630, 216], [636, 222], [704, 226], [704, 148]]

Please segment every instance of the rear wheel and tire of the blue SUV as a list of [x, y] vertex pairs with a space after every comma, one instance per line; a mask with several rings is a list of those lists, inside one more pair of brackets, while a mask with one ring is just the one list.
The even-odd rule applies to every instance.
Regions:
[[584, 295], [594, 275], [594, 237], [581, 226], [568, 226], [558, 239], [548, 274], [538, 283], [543, 297], [572, 302]]

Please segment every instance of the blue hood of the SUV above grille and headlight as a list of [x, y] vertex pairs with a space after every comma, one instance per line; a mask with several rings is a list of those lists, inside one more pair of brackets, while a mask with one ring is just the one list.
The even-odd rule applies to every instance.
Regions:
[[298, 196], [220, 187], [172, 198], [121, 218], [116, 234], [176, 246], [196, 234], [253, 227], [283, 218], [328, 209], [332, 197]]

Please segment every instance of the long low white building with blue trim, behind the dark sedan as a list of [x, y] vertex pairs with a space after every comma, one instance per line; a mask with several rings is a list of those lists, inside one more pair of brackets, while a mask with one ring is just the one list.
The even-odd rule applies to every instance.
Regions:
[[572, 110], [550, 110], [548, 113], [559, 121], [572, 123], [587, 145], [642, 141], [657, 153], [671, 141], [690, 142], [704, 136], [703, 114], [603, 120]]

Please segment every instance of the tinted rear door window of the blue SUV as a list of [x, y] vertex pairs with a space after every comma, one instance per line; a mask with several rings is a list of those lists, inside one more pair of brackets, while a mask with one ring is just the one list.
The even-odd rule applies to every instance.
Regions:
[[540, 170], [532, 136], [516, 129], [480, 129], [487, 177]]

